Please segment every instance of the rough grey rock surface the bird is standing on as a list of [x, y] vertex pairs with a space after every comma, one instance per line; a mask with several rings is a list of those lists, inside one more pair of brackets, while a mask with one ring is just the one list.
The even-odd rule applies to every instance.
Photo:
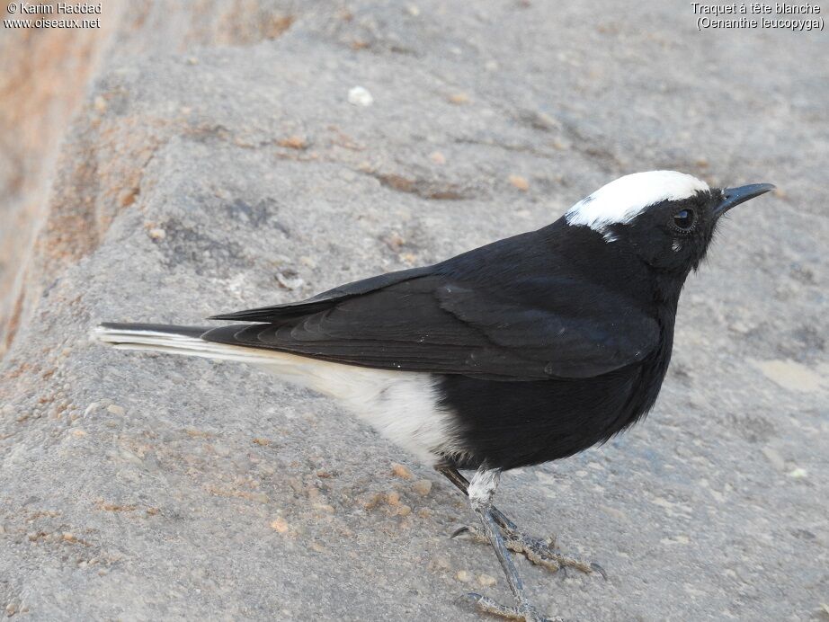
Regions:
[[7, 615], [476, 620], [459, 594], [508, 600], [494, 555], [447, 539], [471, 519], [450, 484], [325, 398], [89, 329], [434, 262], [660, 167], [780, 191], [689, 281], [646, 422], [504, 477], [504, 511], [609, 581], [521, 571], [566, 618], [826, 619], [825, 33], [700, 33], [655, 2], [201, 4], [103, 14], [50, 173], [0, 367]]

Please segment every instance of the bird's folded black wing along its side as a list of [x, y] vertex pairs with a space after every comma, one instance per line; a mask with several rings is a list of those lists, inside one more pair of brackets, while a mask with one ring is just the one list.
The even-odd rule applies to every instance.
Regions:
[[[202, 338], [501, 380], [590, 378], [643, 360], [659, 341], [653, 318], [577, 280], [536, 278], [505, 292], [421, 270], [388, 275], [388, 283], [361, 281], [296, 307], [221, 315], [271, 324], [223, 326]], [[265, 315], [273, 309], [279, 315]]]

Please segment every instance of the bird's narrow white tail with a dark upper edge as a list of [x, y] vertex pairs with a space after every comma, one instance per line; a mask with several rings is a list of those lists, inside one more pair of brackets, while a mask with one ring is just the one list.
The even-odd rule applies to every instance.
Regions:
[[119, 350], [150, 350], [254, 364], [273, 363], [277, 358], [275, 352], [206, 342], [201, 335], [209, 330], [207, 326], [106, 323], [98, 325], [93, 334], [98, 341], [110, 343]]

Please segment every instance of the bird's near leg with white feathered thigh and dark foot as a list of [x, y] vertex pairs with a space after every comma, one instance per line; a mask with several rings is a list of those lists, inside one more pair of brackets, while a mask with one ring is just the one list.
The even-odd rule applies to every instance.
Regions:
[[495, 551], [495, 556], [498, 557], [498, 561], [504, 569], [506, 582], [509, 583], [510, 590], [513, 592], [515, 606], [504, 607], [496, 603], [495, 600], [475, 593], [470, 593], [467, 597], [477, 605], [478, 609], [504, 616], [504, 618], [526, 620], [527, 622], [545, 620], [547, 618], [540, 617], [524, 595], [524, 584], [521, 582], [521, 577], [515, 569], [513, 557], [504, 544], [501, 529], [499, 529], [499, 525], [495, 522], [493, 516], [492, 497], [495, 494], [495, 489], [498, 487], [500, 479], [500, 469], [480, 467], [472, 478], [472, 482], [468, 485], [467, 493], [472, 510], [475, 511], [478, 519], [481, 521], [484, 533], [489, 538], [489, 543]]

